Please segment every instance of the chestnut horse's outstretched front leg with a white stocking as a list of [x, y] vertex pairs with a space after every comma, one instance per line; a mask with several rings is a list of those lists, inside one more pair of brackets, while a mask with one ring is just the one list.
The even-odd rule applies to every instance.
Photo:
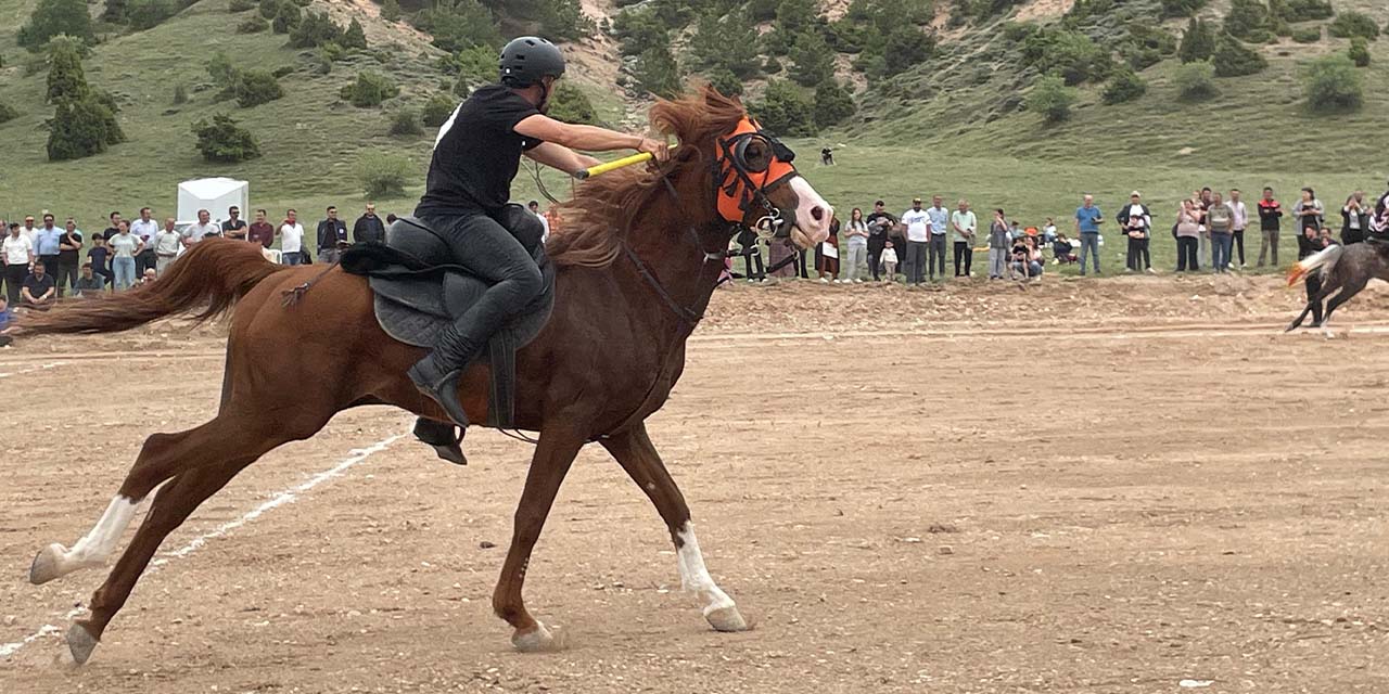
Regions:
[[600, 443], [626, 471], [632, 482], [650, 497], [656, 511], [665, 520], [671, 541], [675, 543], [681, 587], [699, 595], [704, 607], [704, 619], [718, 632], [746, 632], [747, 622], [743, 620], [733, 598], [714, 583], [704, 566], [704, 555], [694, 537], [694, 525], [690, 523], [690, 509], [685, 504], [685, 496], [665, 471], [661, 455], [656, 452], [656, 446], [646, 433], [646, 425], [638, 423]]

